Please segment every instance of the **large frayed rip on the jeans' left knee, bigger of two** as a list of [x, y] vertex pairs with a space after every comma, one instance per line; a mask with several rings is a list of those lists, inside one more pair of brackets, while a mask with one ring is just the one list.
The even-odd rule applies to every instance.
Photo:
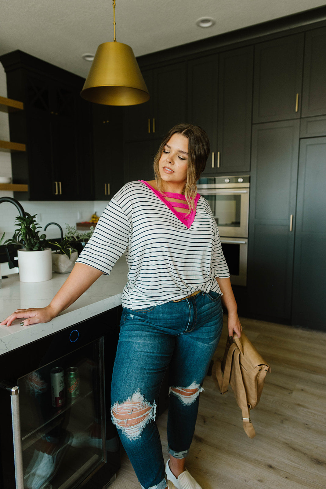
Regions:
[[126, 401], [115, 402], [111, 407], [112, 422], [120, 428], [129, 440], [137, 440], [146, 424], [155, 421], [156, 403], [144, 400], [138, 389]]

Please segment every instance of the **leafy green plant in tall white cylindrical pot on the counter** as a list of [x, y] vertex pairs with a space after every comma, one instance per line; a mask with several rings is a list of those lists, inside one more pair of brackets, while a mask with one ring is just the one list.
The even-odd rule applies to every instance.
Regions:
[[39, 234], [41, 226], [35, 217], [25, 212], [17, 216], [18, 226], [12, 239], [4, 244], [19, 247], [18, 267], [20, 282], [44, 282], [52, 278], [51, 248], [48, 247], [45, 234]]

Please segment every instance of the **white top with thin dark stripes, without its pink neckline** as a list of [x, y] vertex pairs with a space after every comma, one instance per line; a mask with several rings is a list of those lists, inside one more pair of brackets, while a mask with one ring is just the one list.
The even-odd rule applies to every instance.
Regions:
[[230, 276], [208, 202], [198, 197], [188, 226], [164, 200], [141, 181], [126, 183], [77, 260], [108, 275], [125, 251], [128, 282], [122, 305], [128, 309], [181, 299], [196, 290], [221, 294], [215, 277]]

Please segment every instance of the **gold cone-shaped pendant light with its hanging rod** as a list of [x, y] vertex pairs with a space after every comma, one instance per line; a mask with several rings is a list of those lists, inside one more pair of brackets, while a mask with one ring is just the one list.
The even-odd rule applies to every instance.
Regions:
[[116, 41], [116, 1], [112, 4], [113, 43], [103, 43], [97, 48], [81, 96], [103, 105], [142, 104], [149, 99], [149, 93], [133, 50]]

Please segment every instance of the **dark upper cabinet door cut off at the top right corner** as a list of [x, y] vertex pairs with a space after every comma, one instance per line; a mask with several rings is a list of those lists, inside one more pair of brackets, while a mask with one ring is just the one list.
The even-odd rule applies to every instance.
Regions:
[[326, 27], [306, 32], [302, 116], [326, 114]]

